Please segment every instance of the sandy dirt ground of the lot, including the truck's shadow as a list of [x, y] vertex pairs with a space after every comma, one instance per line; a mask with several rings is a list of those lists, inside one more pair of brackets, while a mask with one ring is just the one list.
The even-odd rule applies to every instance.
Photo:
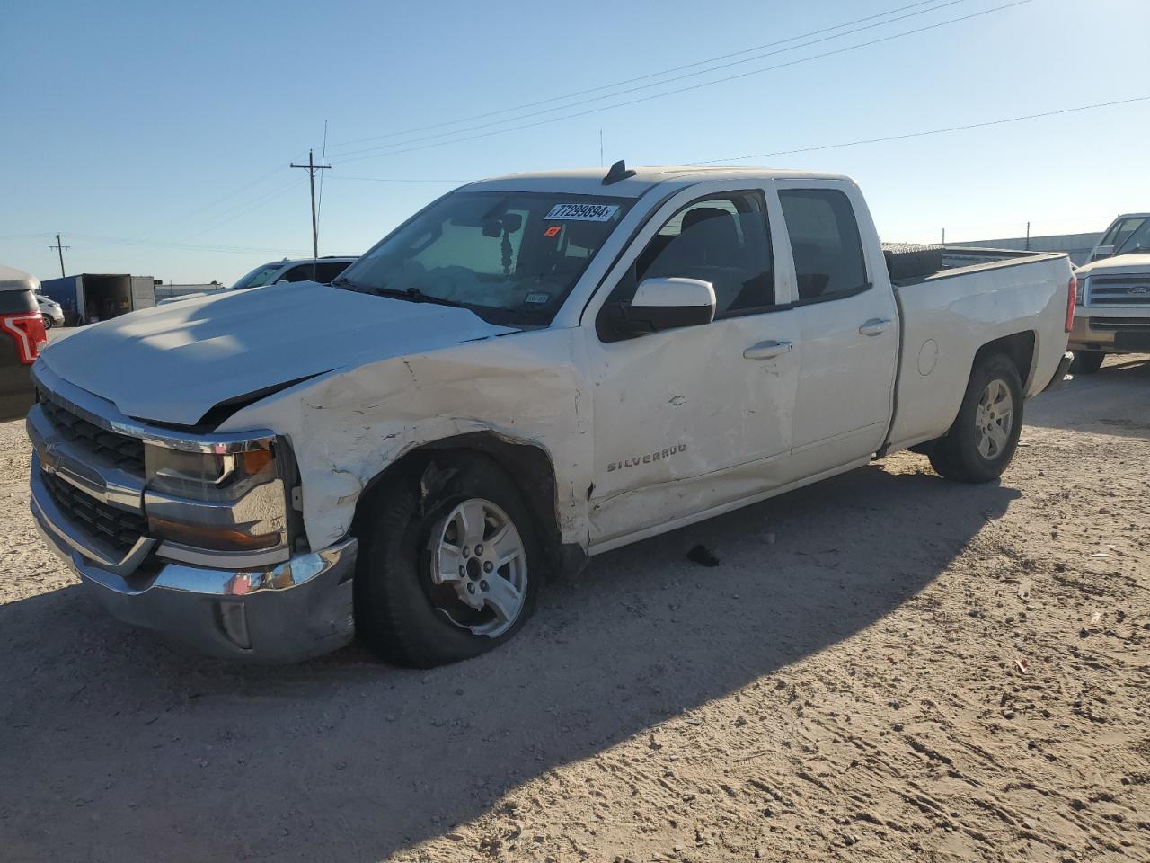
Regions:
[[1000, 483], [897, 455], [597, 558], [432, 672], [110, 620], [0, 426], [0, 860], [1150, 861], [1150, 362], [1027, 422]]

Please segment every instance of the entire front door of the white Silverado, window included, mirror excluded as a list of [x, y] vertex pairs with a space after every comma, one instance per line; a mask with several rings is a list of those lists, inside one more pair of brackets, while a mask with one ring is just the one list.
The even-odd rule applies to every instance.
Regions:
[[[588, 306], [595, 417], [591, 545], [605, 550], [733, 509], [787, 481], [798, 376], [788, 280], [765, 186], [706, 183], [667, 201]], [[782, 235], [780, 235], [780, 242]], [[623, 337], [612, 311], [647, 277], [715, 289], [711, 323]]]

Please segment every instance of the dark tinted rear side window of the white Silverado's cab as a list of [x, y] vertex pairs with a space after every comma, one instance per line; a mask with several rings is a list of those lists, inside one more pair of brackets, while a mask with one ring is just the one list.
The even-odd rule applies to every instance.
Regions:
[[837, 189], [780, 189], [795, 259], [798, 303], [849, 297], [869, 288], [850, 198]]

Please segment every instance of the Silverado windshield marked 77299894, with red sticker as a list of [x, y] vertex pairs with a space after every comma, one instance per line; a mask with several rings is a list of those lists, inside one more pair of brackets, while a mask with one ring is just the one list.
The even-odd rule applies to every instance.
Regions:
[[385, 237], [338, 288], [546, 326], [620, 220], [627, 198], [454, 192]]

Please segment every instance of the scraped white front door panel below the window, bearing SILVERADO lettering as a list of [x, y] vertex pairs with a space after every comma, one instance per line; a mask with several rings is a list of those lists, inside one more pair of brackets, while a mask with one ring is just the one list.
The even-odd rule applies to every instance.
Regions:
[[589, 345], [595, 402], [591, 543], [783, 484], [797, 357], [795, 314], [731, 318]]

